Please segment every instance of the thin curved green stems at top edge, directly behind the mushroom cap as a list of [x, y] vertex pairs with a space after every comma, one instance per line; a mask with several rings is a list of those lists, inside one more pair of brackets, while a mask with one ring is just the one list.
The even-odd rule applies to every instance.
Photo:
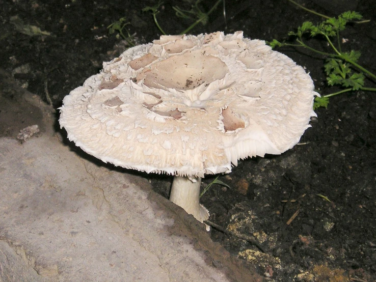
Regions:
[[[180, 34], [186, 34], [189, 31], [191, 31], [197, 24], [200, 22], [205, 25], [209, 19], [209, 15], [217, 8], [217, 6], [223, 2], [224, 0], [218, 0], [208, 12], [204, 12], [200, 9], [199, 4], [202, 2], [202, 0], [197, 0], [194, 5], [192, 5], [191, 10], [183, 10], [179, 8], [178, 6], [172, 7], [175, 11], [175, 15], [179, 18], [182, 19], [189, 19], [189, 20], [194, 20], [194, 23], [192, 23], [187, 29], [185, 29], [183, 32]], [[159, 7], [163, 4], [163, 2], [158, 2], [153, 7], [147, 6], [144, 9], [142, 9], [143, 12], [148, 12], [150, 11], [151, 14], [153, 15], [154, 22], [156, 26], [158, 27], [159, 31], [163, 34], [166, 35], [165, 31], [162, 29], [162, 27], [159, 25], [158, 20], [156, 18], [156, 15], [159, 14]]]

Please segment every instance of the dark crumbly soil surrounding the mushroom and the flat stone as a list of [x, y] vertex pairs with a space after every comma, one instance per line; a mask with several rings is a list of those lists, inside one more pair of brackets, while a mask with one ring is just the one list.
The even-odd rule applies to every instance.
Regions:
[[[209, 10], [213, 3], [204, 0], [200, 7]], [[376, 72], [376, 2], [300, 3], [329, 16], [351, 9], [370, 19], [349, 25], [342, 37], [348, 39], [344, 48], [360, 50], [360, 64]], [[125, 41], [108, 34], [111, 23], [125, 16], [135, 44], [160, 35], [151, 14], [142, 12], [153, 1], [0, 0], [0, 4], [0, 67], [55, 108], [99, 72], [102, 61], [127, 48]], [[168, 34], [180, 33], [191, 23], [175, 17], [175, 5], [189, 9], [191, 4], [165, 1], [157, 17]], [[221, 4], [209, 22], [197, 25], [192, 33], [243, 30], [250, 38], [284, 40], [303, 21], [321, 20], [285, 0], [226, 1], [226, 19], [225, 23]], [[25, 34], [22, 24], [50, 35]], [[324, 41], [311, 42], [326, 48]], [[319, 91], [337, 90], [326, 86], [321, 58], [305, 50], [279, 51], [306, 67]], [[366, 83], [375, 87], [372, 81]], [[1, 85], [3, 98], [18, 99], [19, 93], [7, 92]], [[280, 156], [240, 161], [231, 174], [219, 178], [231, 189], [214, 185], [204, 194], [201, 202], [210, 211], [210, 221], [254, 242], [216, 229], [211, 231], [212, 239], [234, 256], [249, 260], [271, 280], [376, 281], [375, 93], [341, 94], [331, 98], [328, 109], [316, 112], [318, 119], [311, 122], [299, 145]], [[6, 112], [0, 117], [6, 119]], [[9, 127], [1, 129], [0, 136], [15, 134]], [[155, 191], [168, 197], [170, 177], [145, 177]], [[213, 179], [205, 178], [202, 187]]]

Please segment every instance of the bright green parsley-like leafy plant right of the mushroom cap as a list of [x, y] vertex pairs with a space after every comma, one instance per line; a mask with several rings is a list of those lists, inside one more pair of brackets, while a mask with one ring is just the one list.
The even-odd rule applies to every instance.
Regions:
[[[294, 3], [291, 0], [288, 1]], [[308, 9], [305, 8], [305, 10]], [[308, 11], [312, 12], [311, 10]], [[324, 16], [318, 13], [315, 14]], [[339, 85], [344, 89], [331, 94], [321, 95], [321, 97], [316, 97], [313, 105], [314, 109], [318, 107], [326, 108], [329, 104], [329, 97], [341, 93], [358, 90], [376, 92], [376, 88], [364, 87], [364, 79], [368, 77], [373, 83], [375, 83], [376, 75], [358, 64], [358, 60], [361, 55], [360, 52], [355, 50], [342, 51], [341, 47], [341, 39], [339, 36], [340, 32], [346, 28], [346, 24], [348, 22], [360, 20], [362, 19], [362, 16], [357, 12], [348, 11], [342, 13], [338, 17], [324, 17], [326, 17], [327, 19], [323, 22], [315, 25], [311, 21], [305, 21], [301, 26], [298, 27], [297, 32], [289, 32], [289, 36], [296, 37], [296, 43], [294, 44], [279, 42], [276, 39], [268, 42], [268, 44], [272, 48], [281, 46], [307, 48], [315, 53], [322, 55], [326, 60], [324, 68], [327, 75], [327, 83], [329, 84], [329, 86]], [[323, 52], [311, 47], [305, 42], [306, 35], [309, 35], [309, 37], [324, 38], [324, 40], [328, 42], [330, 51]]]

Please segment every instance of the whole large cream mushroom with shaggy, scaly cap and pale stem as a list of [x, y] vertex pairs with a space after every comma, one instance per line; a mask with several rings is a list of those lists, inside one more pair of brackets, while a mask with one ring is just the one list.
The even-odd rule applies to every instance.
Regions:
[[170, 200], [203, 222], [201, 178], [292, 148], [315, 95], [302, 67], [243, 32], [161, 36], [103, 63], [64, 98], [60, 125], [104, 162], [175, 176]]

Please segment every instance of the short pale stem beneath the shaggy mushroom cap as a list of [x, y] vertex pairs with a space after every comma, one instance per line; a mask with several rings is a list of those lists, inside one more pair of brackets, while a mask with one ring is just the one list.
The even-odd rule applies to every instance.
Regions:
[[175, 176], [172, 182], [170, 201], [192, 214], [198, 221], [204, 222], [209, 218], [209, 212], [200, 205], [201, 178], [193, 182], [187, 177]]

